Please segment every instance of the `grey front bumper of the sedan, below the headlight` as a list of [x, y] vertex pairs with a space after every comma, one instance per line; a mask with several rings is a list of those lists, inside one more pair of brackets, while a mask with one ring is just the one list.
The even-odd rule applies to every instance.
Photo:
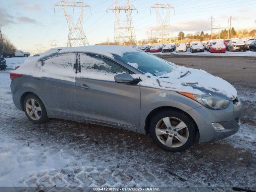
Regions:
[[[242, 104], [230, 102], [228, 108], [211, 110], [201, 106], [187, 113], [194, 119], [199, 130], [199, 143], [214, 142], [226, 138], [238, 132], [240, 128]], [[218, 123], [225, 129], [216, 131], [212, 123]]]

